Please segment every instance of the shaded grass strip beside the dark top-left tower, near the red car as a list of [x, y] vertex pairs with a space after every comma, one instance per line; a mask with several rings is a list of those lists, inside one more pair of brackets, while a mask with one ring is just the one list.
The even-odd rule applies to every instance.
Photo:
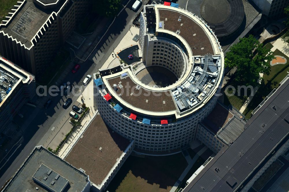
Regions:
[[[53, 84], [54, 81], [57, 80], [58, 77], [61, 75], [61, 72], [70, 63], [68, 57], [69, 51], [61, 49], [59, 51], [59, 54], [57, 54], [53, 61], [51, 61], [51, 65], [49, 66], [49, 68], [47, 68], [47, 70], [39, 78], [38, 83], [41, 85], [48, 85], [48, 83], [51, 82]], [[51, 80], [51, 78], [53, 78], [53, 80]]]

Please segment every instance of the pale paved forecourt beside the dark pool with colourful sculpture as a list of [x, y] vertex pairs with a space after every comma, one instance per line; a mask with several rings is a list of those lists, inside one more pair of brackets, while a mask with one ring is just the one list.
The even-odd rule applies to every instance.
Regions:
[[[116, 59], [116, 54], [120, 52], [123, 48], [129, 47], [134, 44], [138, 44], [138, 42], [135, 42], [132, 40], [136, 34], [139, 34], [139, 28], [138, 27], [131, 27], [130, 30], [125, 34], [123, 39], [121, 39], [121, 42], [114, 48], [114, 51], [110, 54], [108, 59], [105, 61], [105, 63], [102, 65], [101, 69], [107, 69], [108, 67], [111, 68], [112, 66], [115, 66], [115, 59]], [[113, 55], [113, 56], [112, 56]], [[93, 58], [93, 61], [95, 62], [95, 59]], [[113, 61], [113, 63], [112, 63]], [[112, 63], [110, 65], [110, 63]], [[120, 63], [119, 63], [120, 64]]]

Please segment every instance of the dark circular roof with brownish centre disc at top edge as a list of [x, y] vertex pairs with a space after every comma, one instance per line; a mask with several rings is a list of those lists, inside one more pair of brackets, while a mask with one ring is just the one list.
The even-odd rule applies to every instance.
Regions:
[[245, 11], [242, 0], [203, 0], [200, 13], [215, 35], [224, 37], [238, 29]]

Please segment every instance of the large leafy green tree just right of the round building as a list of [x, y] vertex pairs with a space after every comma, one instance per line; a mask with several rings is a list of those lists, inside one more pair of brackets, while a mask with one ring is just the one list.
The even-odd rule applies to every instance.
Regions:
[[274, 59], [272, 53], [253, 35], [249, 35], [247, 38], [240, 38], [240, 42], [231, 46], [225, 57], [225, 66], [237, 67], [234, 80], [240, 85], [254, 87], [258, 85], [259, 73], [270, 73], [270, 65], [265, 60]]

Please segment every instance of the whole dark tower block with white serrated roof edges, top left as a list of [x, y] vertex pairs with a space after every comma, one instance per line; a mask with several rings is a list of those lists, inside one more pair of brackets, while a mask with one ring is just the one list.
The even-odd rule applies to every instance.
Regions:
[[89, 0], [22, 0], [0, 24], [0, 54], [35, 75], [49, 67]]

